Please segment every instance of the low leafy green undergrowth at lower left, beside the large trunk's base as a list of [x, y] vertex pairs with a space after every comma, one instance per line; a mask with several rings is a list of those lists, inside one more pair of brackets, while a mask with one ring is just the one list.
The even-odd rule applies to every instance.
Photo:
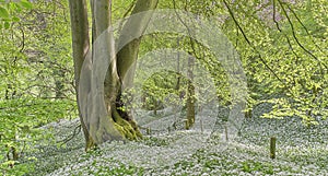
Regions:
[[[69, 117], [71, 115], [69, 108], [73, 108], [74, 105], [69, 101], [26, 98], [1, 102], [0, 107], [0, 154], [2, 156], [10, 154], [10, 159], [0, 160], [0, 168], [5, 169], [8, 160], [19, 163], [13, 161], [12, 148], [16, 150], [20, 159], [24, 157], [23, 153], [34, 150], [35, 145], [49, 143], [52, 139], [51, 129], [45, 131], [38, 127]], [[19, 165], [15, 172], [20, 172], [23, 167], [31, 169], [32, 166]]]

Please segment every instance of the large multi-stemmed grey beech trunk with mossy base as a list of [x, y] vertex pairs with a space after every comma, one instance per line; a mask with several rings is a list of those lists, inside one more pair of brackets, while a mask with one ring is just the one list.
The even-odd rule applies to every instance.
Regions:
[[[96, 119], [93, 119], [92, 124], [86, 124], [84, 118], [80, 118], [86, 140], [86, 150], [99, 142], [113, 139], [112, 137], [117, 137], [117, 131], [121, 138], [116, 139], [141, 138], [142, 136], [133, 118], [128, 112], [121, 108], [124, 106], [121, 92], [124, 85], [127, 83], [125, 81], [130, 80], [126, 78], [131, 78], [134, 73], [131, 68], [137, 60], [141, 42], [141, 37], [132, 40], [128, 37], [142, 36], [152, 13], [142, 13], [138, 15], [137, 19], [127, 20], [118, 40], [118, 46], [121, 46], [121, 48], [117, 51], [113, 32], [109, 31], [107, 35], [103, 35], [104, 32], [106, 33], [108, 27], [112, 26], [112, 0], [91, 0], [93, 50], [92, 55], [86, 55], [90, 50], [86, 1], [70, 0], [69, 2], [77, 92], [79, 90], [79, 79], [83, 60], [89, 59], [91, 60], [90, 62], [92, 62], [98, 57], [109, 57], [109, 66], [104, 81], [104, 102], [107, 116], [98, 116]], [[131, 14], [154, 10], [156, 5], [157, 0], [138, 0]], [[98, 37], [102, 37], [102, 43], [96, 43]], [[129, 43], [120, 44], [127, 40]], [[86, 86], [85, 90], [87, 92], [90, 87], [87, 85], [84, 86]], [[81, 99], [81, 97], [84, 98], [84, 96], [92, 96], [90, 93], [91, 91], [85, 95], [78, 95], [78, 98], [80, 97]], [[81, 115], [81, 109], [79, 110]], [[112, 126], [114, 126], [116, 130], [110, 129], [109, 127]]]

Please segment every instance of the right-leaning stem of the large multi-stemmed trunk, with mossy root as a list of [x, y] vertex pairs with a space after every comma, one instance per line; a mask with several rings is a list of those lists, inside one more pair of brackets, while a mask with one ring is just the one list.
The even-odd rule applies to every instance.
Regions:
[[[131, 132], [128, 138], [132, 139], [136, 137], [141, 138], [141, 132], [139, 131], [137, 122], [133, 120], [131, 114], [127, 110], [122, 110], [125, 103], [121, 101], [121, 93], [124, 89], [128, 87], [130, 83], [133, 82], [134, 66], [138, 58], [141, 36], [152, 16], [151, 10], [154, 10], [157, 3], [157, 0], [138, 0], [131, 12], [131, 15], [137, 15], [138, 17], [128, 19], [120, 32], [118, 40], [119, 50], [116, 56], [116, 64], [119, 82], [117, 83], [118, 90], [116, 90], [116, 104], [112, 105], [112, 108], [115, 109], [114, 120], [120, 126], [126, 126], [126, 128], [128, 127]], [[107, 74], [106, 80], [110, 80], [109, 78], [110, 73]]]

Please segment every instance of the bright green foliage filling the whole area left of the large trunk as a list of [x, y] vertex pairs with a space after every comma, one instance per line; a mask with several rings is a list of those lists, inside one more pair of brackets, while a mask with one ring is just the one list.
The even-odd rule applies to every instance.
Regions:
[[[50, 130], [39, 127], [77, 117], [67, 3], [0, 1], [1, 172], [10, 168], [8, 160], [17, 163], [24, 152], [51, 141]], [[31, 167], [15, 164], [7, 174]]]

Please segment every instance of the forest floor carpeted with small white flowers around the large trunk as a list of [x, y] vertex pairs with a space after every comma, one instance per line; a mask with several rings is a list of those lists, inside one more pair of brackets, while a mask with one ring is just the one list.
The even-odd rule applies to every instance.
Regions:
[[[164, 113], [165, 114], [165, 113]], [[227, 136], [221, 122], [211, 129], [166, 128], [175, 115], [143, 114], [142, 127], [152, 128], [141, 141], [110, 142], [85, 153], [82, 132], [65, 145], [44, 143], [26, 153], [37, 160], [25, 175], [328, 175], [328, 120], [306, 127], [297, 118], [245, 119], [237, 136]], [[198, 121], [199, 122], [199, 121]], [[203, 121], [202, 121], [203, 122]], [[57, 141], [69, 138], [78, 119], [52, 122]], [[206, 122], [201, 124], [202, 126]], [[213, 130], [215, 129], [215, 130]], [[277, 138], [277, 157], [270, 159], [270, 138]]]

